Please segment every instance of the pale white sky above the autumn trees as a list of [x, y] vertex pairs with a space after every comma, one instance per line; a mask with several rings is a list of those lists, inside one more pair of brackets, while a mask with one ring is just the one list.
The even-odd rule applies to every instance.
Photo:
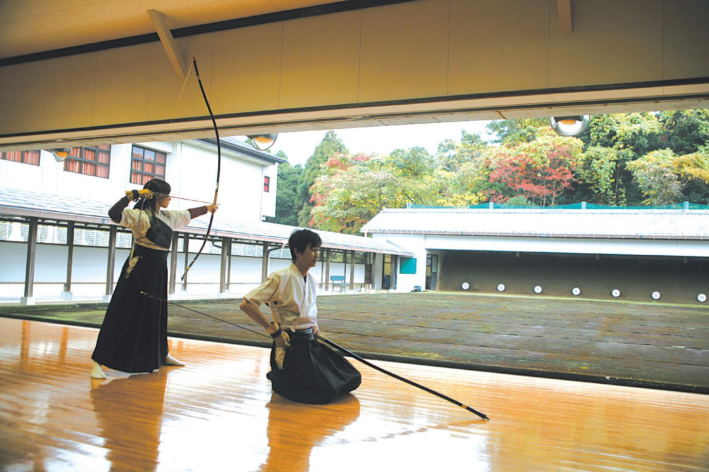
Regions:
[[[351, 154], [389, 154], [394, 149], [421, 146], [435, 154], [438, 144], [446, 139], [460, 140], [461, 130], [479, 132], [484, 139], [491, 139], [485, 126], [489, 121], [463, 121], [452, 123], [425, 123], [422, 125], [396, 125], [366, 128], [335, 129], [337, 136]], [[269, 149], [273, 154], [282, 150], [291, 166], [305, 165], [316, 146], [325, 136], [323, 131], [279, 133], [276, 143]]]

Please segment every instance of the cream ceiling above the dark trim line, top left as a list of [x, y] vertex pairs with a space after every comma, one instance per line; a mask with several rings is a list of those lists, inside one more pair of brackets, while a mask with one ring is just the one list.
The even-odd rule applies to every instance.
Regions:
[[0, 0], [0, 59], [155, 33], [169, 28], [333, 3], [333, 0]]

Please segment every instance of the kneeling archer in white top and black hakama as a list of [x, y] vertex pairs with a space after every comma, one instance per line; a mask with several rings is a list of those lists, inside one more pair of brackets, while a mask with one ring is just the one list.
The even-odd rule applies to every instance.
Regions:
[[[318, 263], [320, 236], [301, 229], [288, 240], [292, 263], [244, 295], [240, 308], [274, 339], [271, 372], [273, 391], [301, 403], [329, 403], [359, 386], [362, 376], [344, 357], [318, 343], [316, 285], [308, 270]], [[259, 306], [271, 309], [269, 322]]]

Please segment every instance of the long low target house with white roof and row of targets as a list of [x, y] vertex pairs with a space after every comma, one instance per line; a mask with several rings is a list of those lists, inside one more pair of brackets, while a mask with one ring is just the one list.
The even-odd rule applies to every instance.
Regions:
[[571, 297], [573, 291], [688, 303], [709, 293], [705, 205], [384, 209], [362, 232], [414, 254], [394, 267], [401, 292], [418, 286]]

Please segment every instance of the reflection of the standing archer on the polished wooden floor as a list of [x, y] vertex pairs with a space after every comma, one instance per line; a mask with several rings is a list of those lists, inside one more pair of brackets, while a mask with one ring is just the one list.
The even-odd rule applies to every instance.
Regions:
[[168, 372], [160, 369], [98, 386], [92, 382], [91, 403], [111, 470], [147, 472], [157, 468]]

